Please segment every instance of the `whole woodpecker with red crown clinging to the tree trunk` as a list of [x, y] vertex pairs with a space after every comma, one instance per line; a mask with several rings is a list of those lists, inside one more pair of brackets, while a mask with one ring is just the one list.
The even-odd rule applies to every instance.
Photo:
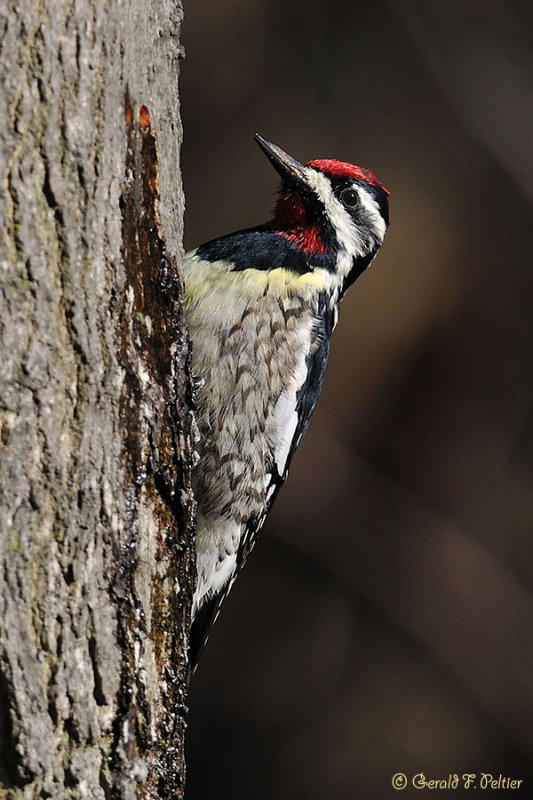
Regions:
[[339, 303], [389, 223], [389, 192], [371, 170], [301, 164], [255, 138], [282, 181], [272, 219], [200, 245], [184, 264], [200, 378], [190, 669], [309, 425]]

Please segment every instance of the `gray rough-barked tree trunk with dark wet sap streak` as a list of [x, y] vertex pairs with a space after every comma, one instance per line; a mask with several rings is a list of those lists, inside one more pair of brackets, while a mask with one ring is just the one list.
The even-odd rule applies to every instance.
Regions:
[[176, 0], [0, 2], [0, 798], [181, 798]]

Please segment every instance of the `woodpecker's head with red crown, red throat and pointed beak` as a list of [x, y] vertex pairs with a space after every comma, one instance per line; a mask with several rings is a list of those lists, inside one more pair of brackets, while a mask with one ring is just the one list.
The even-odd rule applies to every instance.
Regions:
[[282, 179], [268, 227], [311, 266], [329, 270], [344, 293], [383, 242], [388, 189], [369, 169], [329, 158], [301, 164], [259, 134], [255, 138]]

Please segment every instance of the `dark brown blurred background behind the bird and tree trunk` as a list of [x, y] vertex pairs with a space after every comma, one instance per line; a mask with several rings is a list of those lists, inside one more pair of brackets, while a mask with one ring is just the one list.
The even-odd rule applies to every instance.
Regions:
[[256, 130], [391, 191], [193, 682], [189, 800], [533, 797], [532, 40], [530, 0], [186, 3], [188, 248], [268, 218]]

